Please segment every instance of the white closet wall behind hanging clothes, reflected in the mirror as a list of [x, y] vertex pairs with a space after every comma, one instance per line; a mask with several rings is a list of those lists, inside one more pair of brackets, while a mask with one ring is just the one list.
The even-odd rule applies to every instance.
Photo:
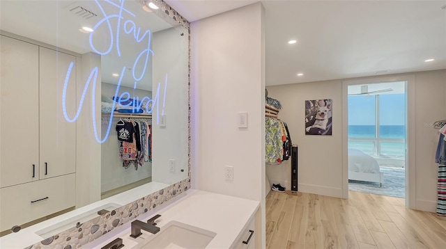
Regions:
[[[106, 97], [112, 99], [116, 92], [116, 85], [102, 82], [101, 93]], [[121, 86], [119, 88], [118, 96], [121, 93], [128, 92], [130, 96], [138, 96], [139, 99], [143, 97], [152, 97], [152, 92], [146, 90], [139, 90]], [[146, 162], [143, 166], [138, 166], [138, 170], [134, 170], [134, 166], [130, 168], [123, 168], [123, 161], [119, 157], [119, 143], [118, 134], [116, 132], [116, 123], [119, 118], [114, 118], [112, 127], [110, 127], [109, 137], [101, 144], [101, 192], [109, 191], [114, 188], [132, 184], [141, 179], [146, 179], [152, 176], [152, 163]], [[102, 138], [107, 133], [109, 125], [109, 117], [102, 118]]]

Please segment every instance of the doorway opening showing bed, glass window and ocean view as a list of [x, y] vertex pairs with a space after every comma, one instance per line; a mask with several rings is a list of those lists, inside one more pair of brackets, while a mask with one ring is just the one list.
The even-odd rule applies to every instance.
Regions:
[[406, 81], [348, 86], [348, 189], [406, 198]]

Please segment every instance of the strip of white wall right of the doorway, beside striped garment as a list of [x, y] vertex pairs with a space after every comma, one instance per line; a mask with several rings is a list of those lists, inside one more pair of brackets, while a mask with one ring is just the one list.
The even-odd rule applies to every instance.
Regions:
[[415, 169], [416, 208], [435, 211], [437, 204], [438, 163], [435, 153], [438, 129], [433, 122], [446, 119], [446, 70], [415, 74]]

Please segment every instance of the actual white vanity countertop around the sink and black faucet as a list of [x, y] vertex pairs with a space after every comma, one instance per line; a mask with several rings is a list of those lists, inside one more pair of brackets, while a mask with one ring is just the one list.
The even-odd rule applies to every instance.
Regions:
[[[171, 220], [199, 227], [204, 230], [215, 232], [217, 235], [206, 248], [231, 248], [240, 232], [254, 217], [260, 202], [236, 198], [229, 195], [220, 195], [206, 191], [190, 189], [183, 194], [183, 197], [155, 211], [155, 213], [144, 214], [137, 219], [146, 222], [155, 214], [160, 214], [157, 218], [157, 227], [162, 227]], [[105, 234], [100, 239], [93, 241], [86, 246], [88, 248], [100, 249], [102, 246], [116, 238], [123, 239], [124, 248], [132, 248], [137, 243], [144, 241], [148, 236], [155, 236], [145, 231], [137, 238], [130, 238], [130, 223], [123, 225], [113, 234]]]

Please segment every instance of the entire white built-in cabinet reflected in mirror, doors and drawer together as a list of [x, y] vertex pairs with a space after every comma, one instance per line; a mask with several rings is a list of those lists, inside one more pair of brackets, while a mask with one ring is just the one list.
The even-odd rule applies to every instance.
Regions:
[[[6, 35], [0, 35], [0, 49], [3, 231], [75, 206], [76, 122], [64, 118], [62, 93], [76, 56]], [[76, 102], [75, 70], [67, 103]], [[77, 106], [70, 106], [75, 113]]]

